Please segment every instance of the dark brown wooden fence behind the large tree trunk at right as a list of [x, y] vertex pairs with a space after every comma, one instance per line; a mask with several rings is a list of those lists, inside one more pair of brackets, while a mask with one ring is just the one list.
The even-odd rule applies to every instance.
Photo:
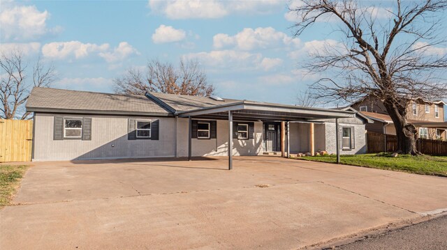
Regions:
[[[425, 155], [447, 155], [447, 141], [418, 139], [416, 147]], [[394, 152], [396, 148], [394, 134], [367, 132], [367, 153]]]

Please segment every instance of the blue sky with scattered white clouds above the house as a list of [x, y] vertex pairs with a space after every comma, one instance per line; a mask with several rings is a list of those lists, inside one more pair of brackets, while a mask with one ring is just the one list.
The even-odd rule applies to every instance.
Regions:
[[55, 88], [112, 92], [147, 60], [197, 58], [219, 96], [294, 104], [318, 77], [300, 63], [337, 39], [331, 20], [293, 37], [287, 4], [298, 2], [1, 1], [1, 47], [53, 63]]

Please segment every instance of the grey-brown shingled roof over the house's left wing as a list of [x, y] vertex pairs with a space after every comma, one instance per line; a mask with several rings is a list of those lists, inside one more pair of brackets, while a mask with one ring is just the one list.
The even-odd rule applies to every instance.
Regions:
[[170, 116], [169, 111], [144, 95], [121, 95], [35, 87], [27, 111], [54, 111], [84, 114], [135, 114]]

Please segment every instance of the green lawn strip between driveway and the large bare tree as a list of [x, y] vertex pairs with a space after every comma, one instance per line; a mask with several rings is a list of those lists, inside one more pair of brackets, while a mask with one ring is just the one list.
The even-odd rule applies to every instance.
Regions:
[[[305, 156], [298, 157], [297, 159], [330, 163], [337, 161], [335, 155]], [[390, 157], [389, 154], [383, 154], [381, 156], [377, 156], [376, 154], [342, 155], [340, 156], [340, 163], [353, 166], [366, 166], [374, 169], [388, 169], [447, 177], [447, 157], [432, 157], [428, 155], [400, 155], [398, 157]]]

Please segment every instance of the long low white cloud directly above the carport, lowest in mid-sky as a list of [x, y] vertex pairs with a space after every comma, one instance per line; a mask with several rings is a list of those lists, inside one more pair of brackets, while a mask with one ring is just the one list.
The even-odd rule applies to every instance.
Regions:
[[260, 53], [235, 50], [214, 50], [211, 52], [190, 53], [183, 56], [186, 60], [197, 59], [207, 66], [219, 69], [270, 70], [282, 63], [280, 58], [266, 58]]

